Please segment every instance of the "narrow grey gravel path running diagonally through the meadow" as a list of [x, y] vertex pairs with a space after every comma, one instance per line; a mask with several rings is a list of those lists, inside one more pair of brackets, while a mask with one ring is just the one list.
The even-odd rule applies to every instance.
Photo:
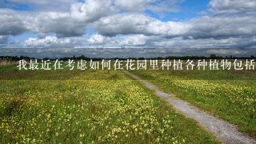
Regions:
[[191, 106], [188, 102], [178, 98], [174, 98], [171, 94], [166, 94], [162, 90], [159, 90], [157, 86], [154, 86], [150, 82], [138, 78], [138, 76], [131, 74], [130, 72], [123, 70], [125, 74], [130, 75], [132, 78], [145, 84], [151, 90], [154, 90], [158, 97], [164, 98], [175, 109], [179, 110], [188, 118], [195, 119], [201, 126], [206, 127], [211, 133], [215, 134], [217, 138], [224, 143], [255, 143], [253, 138], [250, 138], [246, 134], [242, 134], [237, 130], [235, 126], [229, 122], [225, 122], [222, 119], [215, 118], [213, 115], [208, 114], [202, 110], [199, 110], [195, 106]]

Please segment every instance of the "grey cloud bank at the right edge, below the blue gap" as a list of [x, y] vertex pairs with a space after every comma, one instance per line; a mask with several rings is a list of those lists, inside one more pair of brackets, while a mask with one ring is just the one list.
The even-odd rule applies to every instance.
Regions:
[[226, 38], [239, 36], [254, 36], [256, 34], [256, 17], [202, 17], [188, 22], [190, 30], [185, 37], [191, 38]]

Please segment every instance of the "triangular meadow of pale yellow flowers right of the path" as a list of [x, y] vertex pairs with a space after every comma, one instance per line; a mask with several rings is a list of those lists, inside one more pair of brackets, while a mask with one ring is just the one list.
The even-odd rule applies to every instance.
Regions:
[[255, 71], [131, 71], [256, 138]]

